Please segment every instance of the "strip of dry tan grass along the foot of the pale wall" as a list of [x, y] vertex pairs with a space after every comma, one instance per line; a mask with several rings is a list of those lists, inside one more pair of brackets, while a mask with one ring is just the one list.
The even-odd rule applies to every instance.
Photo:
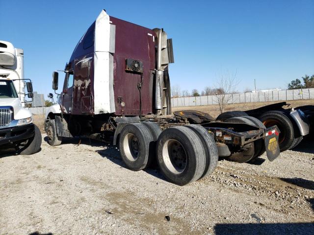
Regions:
[[[279, 102], [283, 102], [283, 101], [228, 104], [226, 107], [226, 111], [234, 111], [234, 110], [245, 111], [245, 110], [256, 109], [256, 108], [259, 108], [268, 104], [275, 104]], [[314, 105], [314, 99], [287, 100], [286, 102], [290, 104], [290, 107], [298, 107], [302, 105]], [[214, 118], [216, 118], [220, 114], [218, 104], [172, 108], [172, 112], [179, 111], [179, 110], [197, 110], [197, 111], [209, 113]]]

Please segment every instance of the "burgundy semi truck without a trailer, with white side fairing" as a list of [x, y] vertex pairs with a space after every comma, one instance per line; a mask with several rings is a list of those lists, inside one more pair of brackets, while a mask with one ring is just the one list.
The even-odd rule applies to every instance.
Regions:
[[[170, 181], [186, 185], [209, 175], [218, 157], [248, 162], [279, 155], [276, 126], [250, 117], [215, 121], [198, 111], [172, 114], [169, 64], [172, 40], [107, 15], [103, 10], [66, 64], [58, 103], [46, 112], [48, 142], [112, 137], [124, 163], [141, 170], [156, 162]], [[58, 90], [58, 72], [52, 76]]]

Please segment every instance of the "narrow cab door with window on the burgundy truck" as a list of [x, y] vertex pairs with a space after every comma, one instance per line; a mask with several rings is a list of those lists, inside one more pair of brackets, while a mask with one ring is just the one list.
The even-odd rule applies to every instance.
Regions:
[[67, 114], [72, 113], [72, 99], [73, 99], [73, 71], [66, 72], [65, 82], [62, 95], [63, 112]]

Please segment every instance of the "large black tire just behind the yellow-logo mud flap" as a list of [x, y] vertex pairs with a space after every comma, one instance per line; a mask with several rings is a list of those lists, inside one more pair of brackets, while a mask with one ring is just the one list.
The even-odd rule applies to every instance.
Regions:
[[[281, 111], [268, 111], [262, 114], [259, 119], [266, 127], [270, 127], [275, 123], [280, 130], [279, 148], [280, 152], [286, 151], [294, 140], [293, 124], [289, 118]], [[271, 122], [271, 120], [273, 120]], [[281, 139], [283, 136], [283, 139]]]

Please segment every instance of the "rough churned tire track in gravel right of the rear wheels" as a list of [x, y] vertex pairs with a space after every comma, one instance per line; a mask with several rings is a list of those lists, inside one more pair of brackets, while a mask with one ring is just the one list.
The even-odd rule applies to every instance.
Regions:
[[266, 203], [256, 201], [268, 210], [286, 214], [298, 214], [314, 221], [314, 213], [310, 200], [314, 198], [314, 190], [302, 188], [285, 182], [280, 178], [261, 176], [256, 173], [244, 173], [243, 169], [231, 169], [218, 166], [206, 180], [200, 182], [210, 184], [218, 182], [222, 187], [237, 193], [244, 193], [263, 198]]

